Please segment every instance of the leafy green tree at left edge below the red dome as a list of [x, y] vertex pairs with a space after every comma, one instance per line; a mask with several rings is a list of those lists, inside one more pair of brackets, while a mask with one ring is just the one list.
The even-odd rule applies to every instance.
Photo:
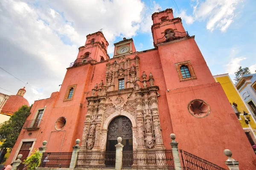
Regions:
[[9, 148], [12, 150], [26, 118], [30, 114], [31, 107], [32, 105], [30, 107], [26, 105], [21, 106], [18, 111], [14, 112], [8, 121], [3, 122], [0, 125], [0, 141], [3, 142], [0, 146], [1, 148]]

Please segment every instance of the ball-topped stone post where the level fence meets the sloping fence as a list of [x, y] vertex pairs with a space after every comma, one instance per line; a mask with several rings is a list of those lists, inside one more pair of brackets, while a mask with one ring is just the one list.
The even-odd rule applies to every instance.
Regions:
[[174, 159], [175, 170], [182, 170], [181, 164], [180, 164], [179, 150], [178, 150], [179, 143], [175, 141], [176, 136], [174, 133], [170, 134], [170, 137], [172, 139], [172, 142], [170, 144], [172, 146], [172, 156]]

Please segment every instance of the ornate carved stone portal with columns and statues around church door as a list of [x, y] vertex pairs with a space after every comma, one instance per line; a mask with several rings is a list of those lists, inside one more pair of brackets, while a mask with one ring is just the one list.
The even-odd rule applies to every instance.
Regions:
[[[105, 80], [98, 82], [86, 98], [81, 150], [104, 151], [107, 139], [119, 136], [132, 139], [133, 150], [163, 149], [157, 104], [160, 94], [153, 75], [147, 73], [147, 79], [145, 72], [140, 74], [137, 56], [111, 61], [106, 64]], [[124, 89], [118, 89], [119, 79], [124, 79]]]

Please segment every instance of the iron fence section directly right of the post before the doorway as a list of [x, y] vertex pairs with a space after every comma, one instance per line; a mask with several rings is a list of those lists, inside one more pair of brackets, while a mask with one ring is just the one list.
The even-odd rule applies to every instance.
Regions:
[[133, 151], [132, 169], [175, 170], [172, 150]]

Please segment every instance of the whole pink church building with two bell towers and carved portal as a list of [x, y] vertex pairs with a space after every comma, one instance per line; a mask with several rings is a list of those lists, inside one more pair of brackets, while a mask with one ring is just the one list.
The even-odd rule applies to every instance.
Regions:
[[152, 20], [154, 48], [145, 51], [124, 38], [110, 58], [102, 32], [87, 35], [60, 91], [35, 101], [7, 164], [44, 140], [47, 152], [72, 152], [76, 139], [81, 150], [104, 151], [121, 135], [131, 143], [127, 150], [157, 150], [171, 149], [169, 135], [175, 133], [180, 149], [221, 167], [223, 150], [230, 149], [241, 169], [255, 169], [255, 153], [195, 36], [172, 9], [152, 14]]

